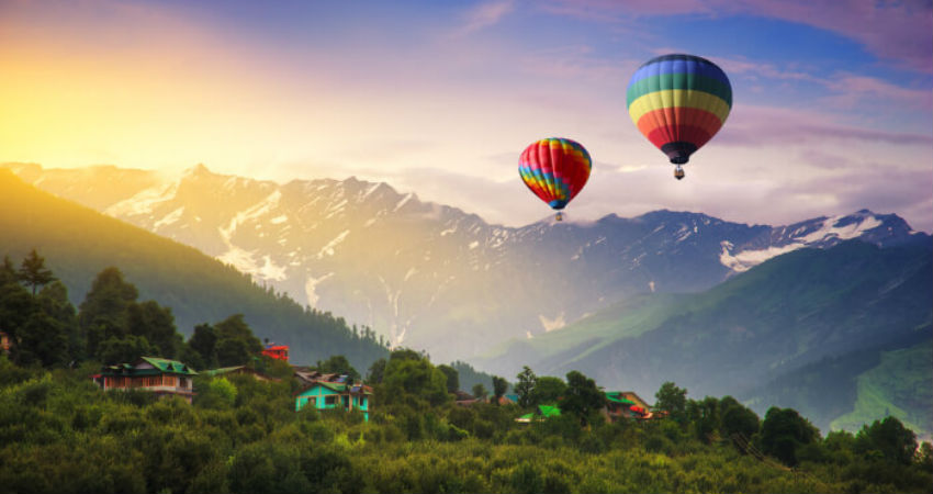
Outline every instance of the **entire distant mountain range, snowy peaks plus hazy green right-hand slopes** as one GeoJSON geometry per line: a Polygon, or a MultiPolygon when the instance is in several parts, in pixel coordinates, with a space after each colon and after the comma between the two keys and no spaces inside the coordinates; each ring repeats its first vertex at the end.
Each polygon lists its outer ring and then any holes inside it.
{"type": "Polygon", "coordinates": [[[893,409],[933,430],[933,397],[917,392],[933,384],[920,351],[933,244],[893,214],[767,226],[655,211],[505,227],[353,178],[5,167],[437,361],[506,377],[577,369],[647,396],[673,380],[760,413],[793,403],[821,428],[893,409]]]}

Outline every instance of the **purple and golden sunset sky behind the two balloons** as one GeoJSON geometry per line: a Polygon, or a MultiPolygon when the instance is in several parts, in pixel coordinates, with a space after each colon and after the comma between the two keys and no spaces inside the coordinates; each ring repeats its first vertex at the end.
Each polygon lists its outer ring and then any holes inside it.
{"type": "Polygon", "coordinates": [[[594,159],[575,221],[931,232],[933,1],[0,0],[0,162],[355,176],[518,226],[550,213],[517,168],[552,136],[594,159]],[[683,181],[626,109],[667,53],[733,89],[683,181]]]}

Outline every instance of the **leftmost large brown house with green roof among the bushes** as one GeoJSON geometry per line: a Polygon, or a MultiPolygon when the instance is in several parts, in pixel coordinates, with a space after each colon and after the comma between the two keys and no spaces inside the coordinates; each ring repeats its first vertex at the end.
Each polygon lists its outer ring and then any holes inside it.
{"type": "Polygon", "coordinates": [[[158,396],[181,396],[188,403],[194,397],[194,369],[178,360],[142,357],[135,363],[106,366],[92,378],[104,391],[146,390],[158,396]]]}

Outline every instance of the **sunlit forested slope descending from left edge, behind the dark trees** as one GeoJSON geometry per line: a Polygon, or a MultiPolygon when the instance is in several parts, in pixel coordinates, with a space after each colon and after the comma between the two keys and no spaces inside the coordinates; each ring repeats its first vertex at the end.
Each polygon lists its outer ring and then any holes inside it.
{"type": "Polygon", "coordinates": [[[140,300],[171,308],[183,335],[198,324],[243,314],[258,337],[290,345],[297,363],[341,353],[364,369],[386,353],[369,328],[303,307],[191,247],[38,191],[0,170],[0,255],[19,263],[33,248],[76,305],[99,272],[115,267],[138,288],[140,300]]]}

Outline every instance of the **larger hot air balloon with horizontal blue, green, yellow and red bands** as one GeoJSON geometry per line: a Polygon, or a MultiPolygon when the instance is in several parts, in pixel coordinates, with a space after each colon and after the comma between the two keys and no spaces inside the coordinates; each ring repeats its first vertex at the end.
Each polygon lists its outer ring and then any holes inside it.
{"type": "Polygon", "coordinates": [[[722,127],[732,86],[716,64],[694,55],[664,55],[639,67],[629,81],[629,116],[652,144],[681,167],[722,127]]]}

